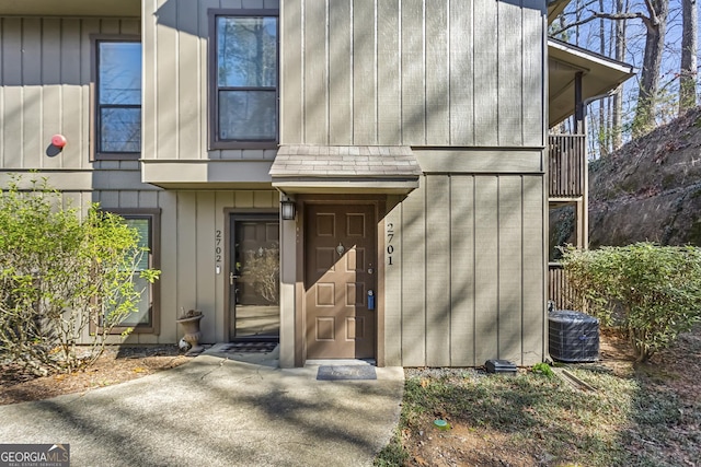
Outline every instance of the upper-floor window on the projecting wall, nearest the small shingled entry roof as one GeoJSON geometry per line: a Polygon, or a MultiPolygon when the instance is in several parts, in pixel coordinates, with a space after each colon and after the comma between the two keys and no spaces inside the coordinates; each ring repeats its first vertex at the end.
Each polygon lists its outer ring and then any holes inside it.
{"type": "MultiPolygon", "coordinates": [[[[258,13],[258,12],[256,12],[258,13]]],[[[214,149],[277,141],[277,16],[214,15],[214,149]]]]}

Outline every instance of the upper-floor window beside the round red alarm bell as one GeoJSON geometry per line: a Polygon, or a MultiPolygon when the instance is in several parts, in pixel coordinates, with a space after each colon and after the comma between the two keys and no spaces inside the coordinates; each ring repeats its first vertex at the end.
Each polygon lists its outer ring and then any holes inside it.
{"type": "Polygon", "coordinates": [[[141,151],[141,44],[97,39],[95,55],[95,155],[138,156],[141,151]]]}

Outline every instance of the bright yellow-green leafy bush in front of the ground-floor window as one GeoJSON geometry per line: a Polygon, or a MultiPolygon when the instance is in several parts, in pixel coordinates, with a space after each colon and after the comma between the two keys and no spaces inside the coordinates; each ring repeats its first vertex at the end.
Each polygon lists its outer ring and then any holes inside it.
{"type": "Polygon", "coordinates": [[[46,180],[27,191],[19,183],[0,191],[0,358],[35,374],[70,372],[94,362],[137,310],[135,271],[145,252],[118,215],[93,205],[81,220],[46,180]]]}

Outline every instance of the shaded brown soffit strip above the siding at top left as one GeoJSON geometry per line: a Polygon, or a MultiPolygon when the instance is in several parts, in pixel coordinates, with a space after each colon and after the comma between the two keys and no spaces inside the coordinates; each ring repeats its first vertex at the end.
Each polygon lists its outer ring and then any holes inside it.
{"type": "Polygon", "coordinates": [[[2,0],[0,16],[141,15],[141,0],[2,0]]]}

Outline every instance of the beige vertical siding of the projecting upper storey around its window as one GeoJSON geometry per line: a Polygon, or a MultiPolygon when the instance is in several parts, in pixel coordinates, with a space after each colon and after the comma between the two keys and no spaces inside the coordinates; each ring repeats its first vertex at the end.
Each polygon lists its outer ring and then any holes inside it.
{"type": "MultiPolygon", "coordinates": [[[[280,7],[280,142],[542,145],[544,7],[536,0],[290,0],[280,7]]],[[[208,151],[208,9],[145,0],[143,156],[208,151]]]]}

